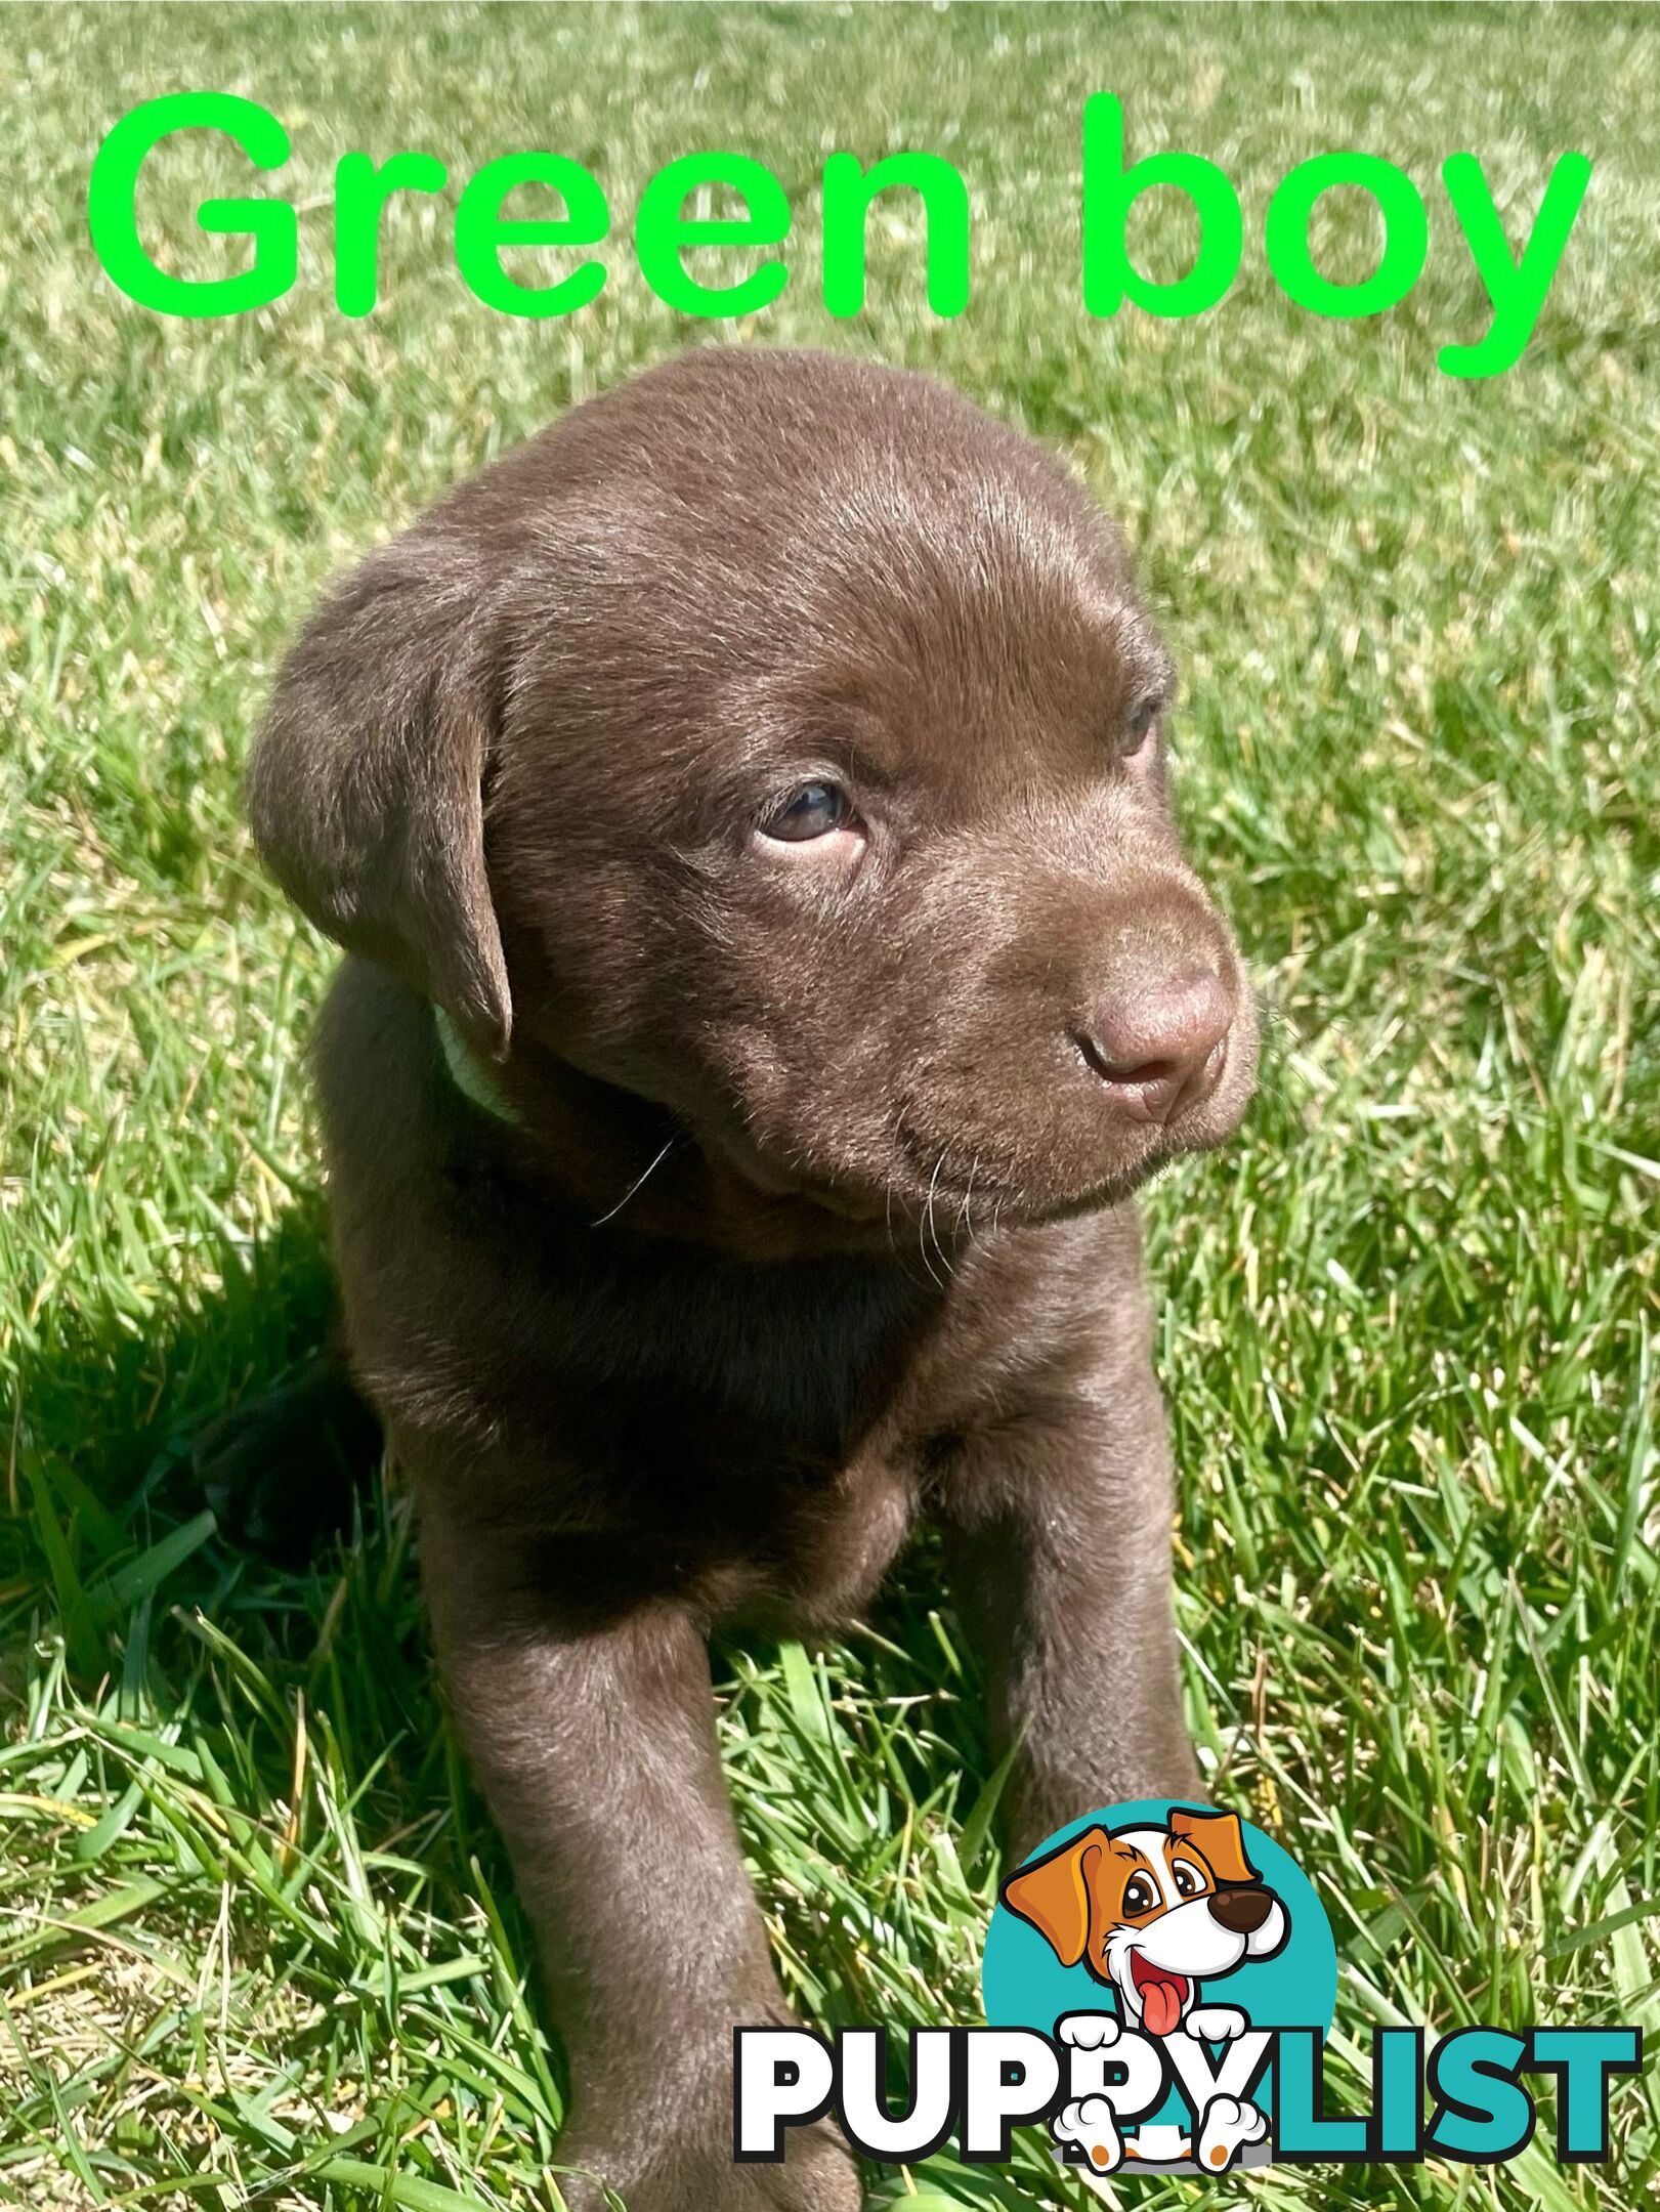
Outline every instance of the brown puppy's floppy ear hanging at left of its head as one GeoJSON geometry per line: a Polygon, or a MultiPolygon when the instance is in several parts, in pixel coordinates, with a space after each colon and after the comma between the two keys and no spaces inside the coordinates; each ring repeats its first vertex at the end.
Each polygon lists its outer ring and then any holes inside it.
{"type": "Polygon", "coordinates": [[[288,896],[491,1053],[511,1031],[485,878],[498,688],[485,553],[416,526],[312,615],[248,768],[255,838],[288,896]]]}

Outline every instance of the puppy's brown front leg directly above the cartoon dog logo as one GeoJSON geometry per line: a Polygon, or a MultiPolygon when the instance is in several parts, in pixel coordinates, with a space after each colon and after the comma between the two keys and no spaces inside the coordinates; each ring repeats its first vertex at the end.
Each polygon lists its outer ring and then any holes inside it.
{"type": "Polygon", "coordinates": [[[1171,1453],[1144,1329],[969,1436],[941,1486],[1016,1858],[1129,1798],[1193,1796],[1171,1613],[1171,1453]]]}

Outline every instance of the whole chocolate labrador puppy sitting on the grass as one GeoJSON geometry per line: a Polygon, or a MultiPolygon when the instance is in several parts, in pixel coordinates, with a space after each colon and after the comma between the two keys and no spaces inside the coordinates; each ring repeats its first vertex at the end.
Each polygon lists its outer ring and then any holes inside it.
{"type": "Polygon", "coordinates": [[[843,1621],[927,1515],[1014,1851],[1197,1787],[1131,1192],[1235,1126],[1255,1018],[1169,697],[1040,447],[750,347],[463,484],[281,670],[250,803],[350,953],[350,1360],[540,1931],[562,2157],[631,2212],[859,2201],[828,2126],[730,2163],[730,2033],[781,1997],[715,1624],[843,1621]]]}

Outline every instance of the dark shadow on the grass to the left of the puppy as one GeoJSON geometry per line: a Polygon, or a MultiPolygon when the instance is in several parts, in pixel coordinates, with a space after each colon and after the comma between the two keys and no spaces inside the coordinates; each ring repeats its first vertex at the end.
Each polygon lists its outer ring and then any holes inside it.
{"type": "Polygon", "coordinates": [[[266,1239],[226,1245],[219,1287],[162,1327],[117,1312],[55,1316],[20,1363],[0,1666],[29,1677],[29,1646],[62,1635],[66,1701],[206,1734],[255,1818],[292,1794],[303,1710],[341,1781],[361,1790],[365,1836],[378,1847],[449,1834],[434,1871],[465,1887],[474,1851],[491,1878],[505,1867],[456,1785],[407,1498],[394,1480],[367,1484],[350,1526],[290,1571],[219,1533],[190,1458],[208,1422],[319,1349],[330,1312],[328,1223],[312,1194],[266,1239]]]}

